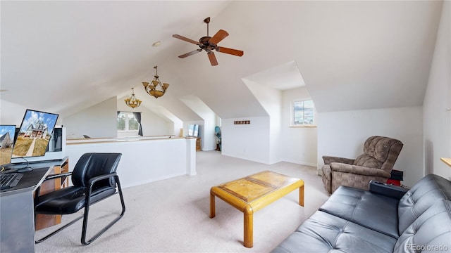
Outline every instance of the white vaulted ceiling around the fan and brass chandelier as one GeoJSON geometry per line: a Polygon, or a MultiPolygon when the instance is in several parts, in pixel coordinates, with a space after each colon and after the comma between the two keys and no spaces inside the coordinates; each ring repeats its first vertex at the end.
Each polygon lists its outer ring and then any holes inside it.
{"type": "Polygon", "coordinates": [[[196,119],[197,96],[219,117],[266,115],[243,78],[305,83],[319,112],[423,103],[441,1],[1,1],[1,100],[63,117],[135,87],[149,107],[196,119]],[[226,30],[244,56],[177,56],[226,30]],[[161,45],[152,44],[161,41],[161,45]],[[171,84],[142,88],[159,66],[171,84]],[[302,75],[301,75],[302,74],[302,75]],[[290,77],[290,78],[287,78],[290,77]]]}

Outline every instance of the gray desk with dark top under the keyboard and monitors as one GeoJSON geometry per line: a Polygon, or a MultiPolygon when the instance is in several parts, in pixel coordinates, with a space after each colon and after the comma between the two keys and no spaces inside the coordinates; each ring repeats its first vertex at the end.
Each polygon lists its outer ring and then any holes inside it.
{"type": "Polygon", "coordinates": [[[33,170],[24,172],[16,187],[0,191],[0,252],[35,252],[33,194],[53,167],[66,160],[30,163],[33,170]]]}

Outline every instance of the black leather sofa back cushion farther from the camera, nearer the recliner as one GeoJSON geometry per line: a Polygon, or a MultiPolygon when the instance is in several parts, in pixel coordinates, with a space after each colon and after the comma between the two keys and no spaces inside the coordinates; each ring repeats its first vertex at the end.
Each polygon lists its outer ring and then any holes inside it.
{"type": "Polygon", "coordinates": [[[400,200],[399,233],[402,234],[436,200],[451,200],[451,181],[428,174],[415,183],[400,200]]]}

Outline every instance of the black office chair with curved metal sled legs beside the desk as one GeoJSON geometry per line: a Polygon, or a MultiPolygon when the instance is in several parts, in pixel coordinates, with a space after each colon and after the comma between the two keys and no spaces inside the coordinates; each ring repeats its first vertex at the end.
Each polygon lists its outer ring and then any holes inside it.
{"type": "Polygon", "coordinates": [[[86,153],[80,157],[72,172],[47,176],[46,180],[71,176],[73,186],[41,196],[39,196],[38,188],[35,195],[35,222],[37,214],[74,214],[82,208],[85,208],[85,214],[44,238],[36,240],[36,243],[47,240],[47,238],[83,218],[81,242],[83,245],[89,245],[122,218],[125,212],[125,204],[121,183],[119,183],[119,177],[116,174],[121,155],[120,153],[86,153]],[[116,193],[119,193],[121,198],[121,214],[92,236],[91,239],[86,240],[89,206],[116,193]]]}

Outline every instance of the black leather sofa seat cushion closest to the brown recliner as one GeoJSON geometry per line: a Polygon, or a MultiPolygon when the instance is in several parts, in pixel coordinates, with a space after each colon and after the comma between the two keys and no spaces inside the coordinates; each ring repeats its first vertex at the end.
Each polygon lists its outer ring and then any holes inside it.
{"type": "Polygon", "coordinates": [[[319,210],[398,238],[398,202],[392,197],[340,186],[319,210]]]}

